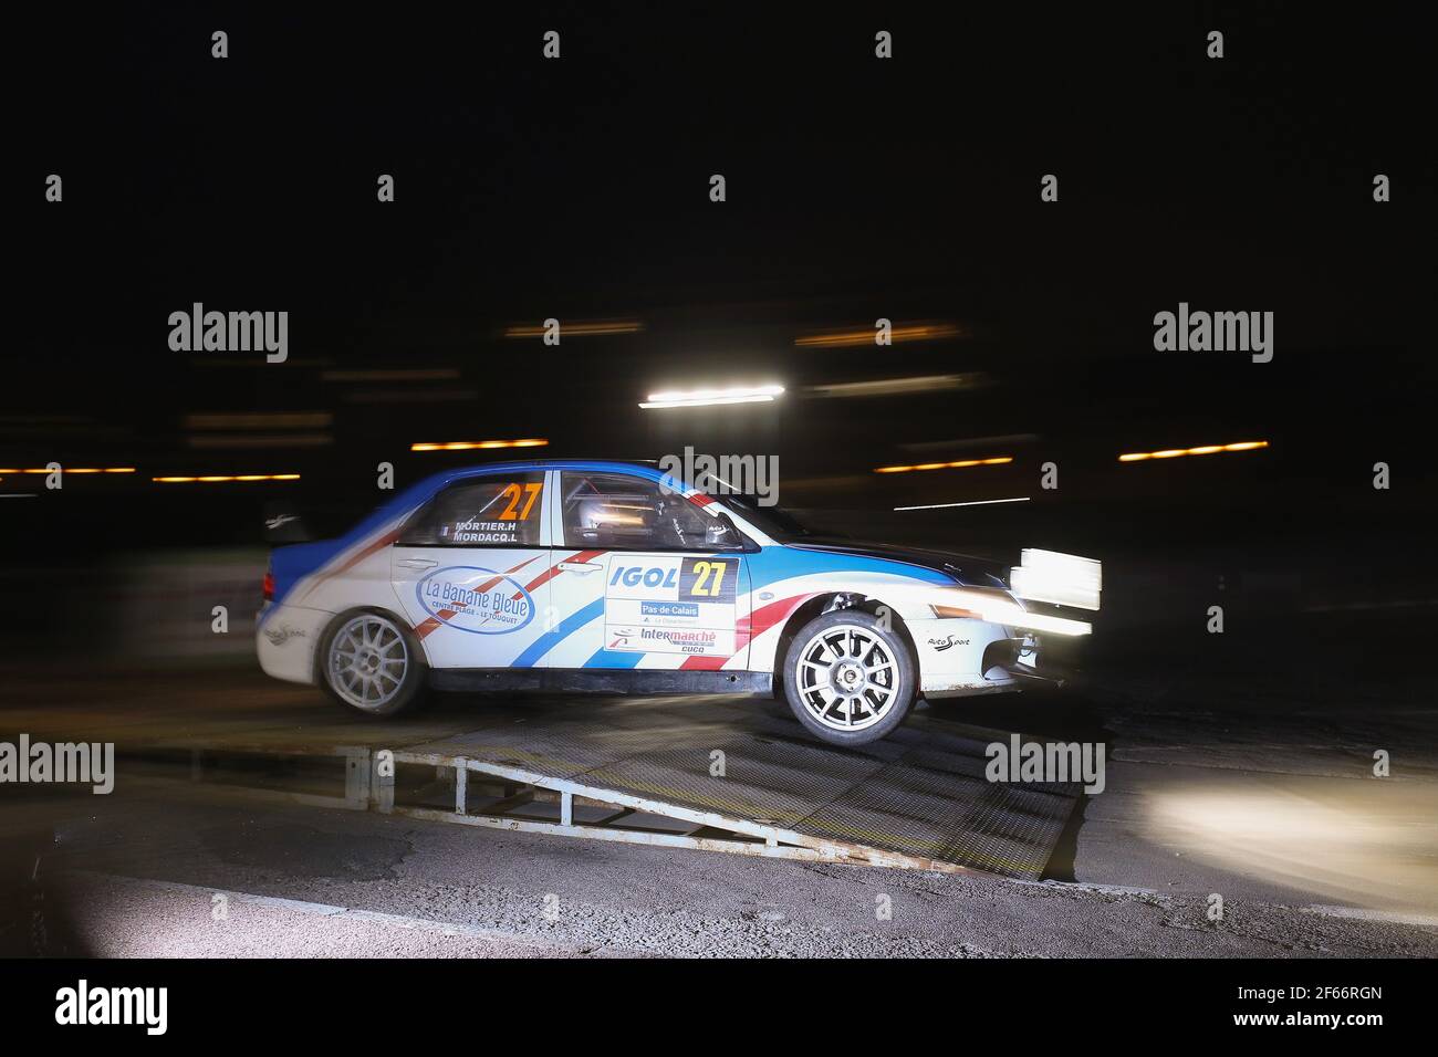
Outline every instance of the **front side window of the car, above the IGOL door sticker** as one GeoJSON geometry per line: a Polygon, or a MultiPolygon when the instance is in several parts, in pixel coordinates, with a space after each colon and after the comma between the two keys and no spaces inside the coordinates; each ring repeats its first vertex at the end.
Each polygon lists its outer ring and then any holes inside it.
{"type": "Polygon", "coordinates": [[[626,473],[559,477],[565,546],[617,551],[742,549],[725,522],[710,518],[679,492],[626,473]]]}

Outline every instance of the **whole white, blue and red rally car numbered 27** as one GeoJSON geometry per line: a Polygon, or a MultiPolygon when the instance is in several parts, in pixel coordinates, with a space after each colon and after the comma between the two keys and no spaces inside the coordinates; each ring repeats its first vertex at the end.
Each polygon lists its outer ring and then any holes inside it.
{"type": "Polygon", "coordinates": [[[444,472],[276,548],[256,644],[371,716],[427,689],[772,693],[858,745],[917,696],[1018,689],[1040,634],[1090,630],[1032,610],[981,559],[814,536],[651,465],[545,460],[444,472]]]}

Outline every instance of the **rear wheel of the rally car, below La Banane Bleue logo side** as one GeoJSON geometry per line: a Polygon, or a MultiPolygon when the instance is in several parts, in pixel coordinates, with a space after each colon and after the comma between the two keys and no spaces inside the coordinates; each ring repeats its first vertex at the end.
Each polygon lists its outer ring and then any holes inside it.
{"type": "Polygon", "coordinates": [[[417,706],[427,682],[424,654],[388,613],[351,610],[331,621],[319,643],[319,685],[364,716],[397,716],[417,706]]]}

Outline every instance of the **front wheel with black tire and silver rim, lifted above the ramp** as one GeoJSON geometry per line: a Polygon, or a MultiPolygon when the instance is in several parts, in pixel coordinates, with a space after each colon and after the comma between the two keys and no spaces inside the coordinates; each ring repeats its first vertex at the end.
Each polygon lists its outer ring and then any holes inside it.
{"type": "Polygon", "coordinates": [[[784,657],[789,708],[810,733],[831,745],[867,745],[890,733],[909,715],[916,686],[903,636],[863,610],[815,617],[784,657]]]}

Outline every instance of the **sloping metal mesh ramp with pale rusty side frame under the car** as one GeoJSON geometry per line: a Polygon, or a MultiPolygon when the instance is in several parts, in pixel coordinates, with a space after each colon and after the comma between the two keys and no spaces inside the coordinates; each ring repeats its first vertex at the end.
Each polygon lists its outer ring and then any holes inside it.
{"type": "Polygon", "coordinates": [[[1007,733],[915,716],[861,749],[742,697],[485,702],[477,729],[391,749],[380,811],[818,861],[1041,876],[1076,785],[984,778],[1007,733]],[[423,775],[421,781],[416,781],[423,775]]]}

